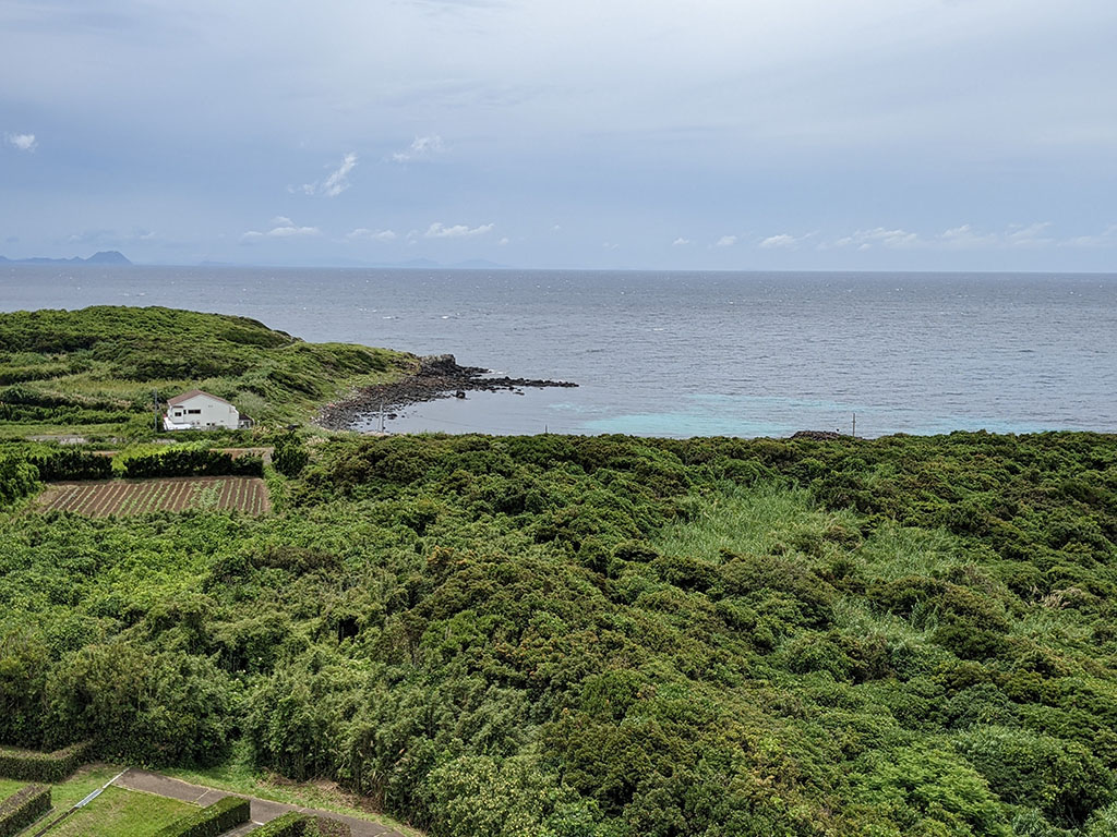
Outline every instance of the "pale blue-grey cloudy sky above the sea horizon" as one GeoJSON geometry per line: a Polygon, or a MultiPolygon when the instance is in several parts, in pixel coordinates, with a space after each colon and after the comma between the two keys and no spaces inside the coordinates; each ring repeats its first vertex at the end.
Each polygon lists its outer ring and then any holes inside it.
{"type": "Polygon", "coordinates": [[[1113,0],[0,0],[0,253],[1117,271],[1113,0]]]}

